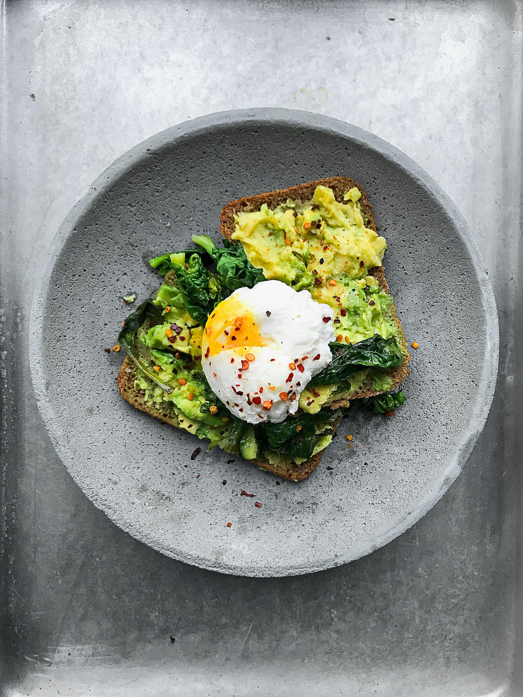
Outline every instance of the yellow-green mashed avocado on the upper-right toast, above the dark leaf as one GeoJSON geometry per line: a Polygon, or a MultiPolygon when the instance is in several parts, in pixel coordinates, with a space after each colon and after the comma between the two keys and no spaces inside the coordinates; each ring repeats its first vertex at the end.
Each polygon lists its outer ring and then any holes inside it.
{"type": "Polygon", "coordinates": [[[232,234],[267,279],[308,289],[330,305],[337,341],[352,343],[397,335],[393,300],[369,273],[381,266],[386,241],[365,227],[360,198],[353,187],[338,202],[332,189],[318,186],[310,204],[287,201],[238,213],[232,234]]]}

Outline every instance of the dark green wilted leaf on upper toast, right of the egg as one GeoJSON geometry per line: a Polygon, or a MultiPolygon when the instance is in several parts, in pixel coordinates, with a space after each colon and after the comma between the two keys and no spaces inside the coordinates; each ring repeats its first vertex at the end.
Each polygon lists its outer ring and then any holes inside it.
{"type": "Polygon", "coordinates": [[[379,335],[357,344],[329,344],[333,360],[319,372],[309,385],[335,385],[347,380],[365,366],[393,368],[402,365],[404,355],[396,339],[383,339],[379,335]]]}

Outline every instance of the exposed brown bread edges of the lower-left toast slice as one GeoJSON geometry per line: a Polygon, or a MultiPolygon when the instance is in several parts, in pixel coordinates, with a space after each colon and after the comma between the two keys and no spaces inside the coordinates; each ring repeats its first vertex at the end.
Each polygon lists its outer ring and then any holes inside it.
{"type": "MultiPolygon", "coordinates": [[[[135,366],[132,360],[126,356],[121,365],[117,378],[118,388],[123,399],[125,399],[126,402],[128,402],[128,404],[131,406],[135,406],[137,409],[145,411],[151,416],[164,421],[166,424],[180,428],[178,416],[174,412],[170,402],[163,402],[160,406],[151,406],[146,404],[144,390],[141,390],[135,385],[137,370],[138,368],[135,366]]],[[[338,427],[338,423],[339,422],[335,422],[335,424],[333,424],[334,431],[336,427],[338,427]]],[[[321,456],[324,454],[324,452],[325,450],[320,450],[320,452],[317,452],[317,454],[313,455],[310,459],[300,465],[296,464],[295,462],[289,465],[273,465],[266,459],[259,459],[255,460],[254,462],[261,469],[267,470],[278,477],[285,477],[285,479],[290,480],[291,482],[299,482],[300,480],[307,479],[312,472],[314,472],[319,465],[319,461],[321,460],[321,456]]]]}

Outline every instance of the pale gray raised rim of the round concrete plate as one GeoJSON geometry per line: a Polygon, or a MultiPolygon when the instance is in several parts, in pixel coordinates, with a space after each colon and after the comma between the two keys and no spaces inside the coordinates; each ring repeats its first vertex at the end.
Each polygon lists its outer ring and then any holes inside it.
{"type": "Polygon", "coordinates": [[[140,542],[151,546],[153,549],[160,551],[165,556],[169,556],[179,561],[195,565],[202,569],[207,569],[209,571],[220,572],[223,574],[232,574],[236,576],[250,576],[250,577],[281,577],[281,576],[296,576],[301,574],[308,574],[312,572],[318,572],[326,569],[331,569],[333,567],[346,564],[348,562],[359,559],[367,554],[379,549],[381,546],[388,544],[395,537],[399,537],[406,530],[411,528],[418,520],[420,520],[436,503],[439,499],[444,496],[444,493],[448,491],[449,487],[456,480],[457,476],[462,472],[470,454],[473,450],[474,445],[480,436],[485,422],[487,420],[487,415],[492,406],[492,399],[494,397],[494,390],[497,383],[498,365],[499,365],[499,322],[496,307],[496,300],[494,298],[494,291],[492,289],[492,284],[490,282],[490,277],[488,275],[487,266],[483,260],[483,255],[480,252],[479,245],[474,238],[467,222],[458,210],[457,206],[448,197],[448,195],[441,189],[441,187],[434,181],[434,179],[427,174],[427,172],[420,167],[414,160],[412,160],[409,155],[406,155],[395,146],[391,145],[384,139],[381,139],[377,135],[374,135],[356,125],[347,123],[345,121],[340,121],[338,118],[333,118],[331,116],[325,116],[324,114],[316,114],[314,112],[305,112],[297,109],[282,109],[279,107],[257,107],[252,109],[233,109],[225,112],[216,112],[213,114],[206,114],[204,116],[199,116],[197,118],[179,123],[177,125],[171,126],[165,130],[162,130],[148,138],[139,144],[132,147],[126,153],[123,153],[119,158],[114,160],[109,167],[105,169],[100,176],[96,178],[95,181],[89,187],[89,190],[84,194],[82,199],[77,201],[77,203],[71,208],[68,215],[61,223],[58,231],[50,244],[47,254],[43,260],[42,267],[40,268],[40,273],[38,274],[38,279],[36,282],[36,287],[33,295],[33,302],[31,305],[31,312],[29,316],[29,367],[31,372],[31,381],[33,383],[33,390],[36,396],[36,402],[38,404],[38,411],[45,425],[47,434],[49,434],[52,441],[53,447],[56,450],[61,459],[63,465],[66,467],[69,475],[73,478],[77,486],[77,477],[71,473],[68,468],[66,461],[68,454],[66,452],[66,447],[61,443],[61,440],[54,433],[53,429],[50,428],[50,423],[54,420],[53,409],[50,401],[45,395],[45,378],[43,375],[42,361],[40,361],[40,353],[43,350],[43,312],[45,309],[45,290],[49,284],[50,278],[52,276],[52,271],[54,264],[59,258],[59,255],[66,244],[70,233],[75,230],[75,223],[81,220],[82,216],[86,213],[93,203],[98,199],[98,197],[103,196],[106,187],[115,183],[121,176],[126,174],[126,171],[131,169],[137,164],[139,160],[146,160],[150,156],[154,156],[163,146],[167,146],[169,143],[175,140],[185,139],[187,137],[192,137],[197,135],[197,132],[206,132],[212,128],[217,128],[220,126],[230,126],[234,128],[238,124],[250,123],[250,122],[282,122],[287,125],[289,123],[296,126],[296,128],[306,127],[313,128],[315,130],[322,130],[325,132],[331,132],[336,135],[343,135],[344,137],[349,137],[357,144],[376,151],[384,157],[386,160],[393,162],[397,167],[400,167],[405,174],[409,177],[414,178],[414,181],[420,185],[427,194],[437,201],[437,204],[443,208],[449,215],[455,229],[464,242],[467,249],[469,257],[473,263],[473,268],[476,273],[476,280],[480,288],[481,300],[483,306],[483,312],[485,315],[485,330],[486,330],[486,343],[485,343],[485,356],[483,360],[483,371],[481,373],[480,383],[478,385],[478,390],[476,392],[476,404],[471,417],[469,418],[468,429],[462,433],[460,438],[460,443],[453,452],[452,457],[448,460],[447,466],[441,476],[436,480],[429,491],[429,494],[425,498],[420,499],[416,508],[404,516],[398,523],[396,523],[391,528],[388,528],[385,533],[382,533],[379,539],[370,544],[364,544],[357,551],[353,551],[344,556],[340,555],[336,558],[330,558],[322,565],[314,565],[309,567],[280,567],[274,568],[270,564],[266,564],[263,567],[240,567],[238,565],[232,565],[229,562],[212,562],[207,558],[195,558],[195,556],[190,557],[188,554],[176,554],[176,551],[163,549],[159,544],[154,544],[146,535],[142,534],[139,528],[135,528],[131,524],[127,528],[121,528],[121,526],[116,523],[112,510],[108,507],[103,507],[102,502],[98,502],[96,493],[89,491],[89,495],[86,493],[85,487],[79,487],[84,495],[91,500],[91,502],[100,510],[107,515],[107,517],[112,520],[121,530],[128,533],[132,537],[139,539],[140,542]]]}

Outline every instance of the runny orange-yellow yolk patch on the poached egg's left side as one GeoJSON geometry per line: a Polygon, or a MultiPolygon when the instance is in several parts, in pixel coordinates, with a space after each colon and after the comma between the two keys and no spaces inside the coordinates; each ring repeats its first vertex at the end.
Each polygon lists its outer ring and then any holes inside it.
{"type": "Polygon", "coordinates": [[[247,346],[271,346],[273,339],[262,337],[254,314],[234,297],[220,302],[205,325],[204,355],[247,346]],[[208,353],[209,351],[209,353],[208,353]]]}

